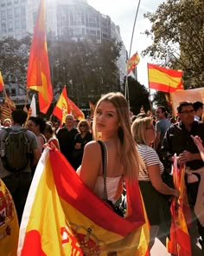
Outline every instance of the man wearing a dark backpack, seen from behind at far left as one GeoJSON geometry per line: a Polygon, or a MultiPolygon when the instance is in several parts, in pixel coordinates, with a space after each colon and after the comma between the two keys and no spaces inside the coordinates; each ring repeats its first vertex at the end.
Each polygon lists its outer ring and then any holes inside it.
{"type": "Polygon", "coordinates": [[[11,115],[12,126],[0,128],[0,178],[10,190],[20,223],[32,181],[30,166],[37,164],[41,151],[35,134],[22,128],[22,124],[27,120],[27,113],[16,109],[11,115]],[[9,139],[11,136],[12,139],[9,139]]]}

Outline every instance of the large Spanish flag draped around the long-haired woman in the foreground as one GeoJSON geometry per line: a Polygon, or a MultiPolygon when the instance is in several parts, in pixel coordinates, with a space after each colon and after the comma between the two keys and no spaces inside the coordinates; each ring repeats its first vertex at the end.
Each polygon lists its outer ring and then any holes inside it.
{"type": "Polygon", "coordinates": [[[149,255],[138,184],[126,184],[123,219],[92,194],[61,152],[46,148],[22,216],[18,255],[149,255]]]}

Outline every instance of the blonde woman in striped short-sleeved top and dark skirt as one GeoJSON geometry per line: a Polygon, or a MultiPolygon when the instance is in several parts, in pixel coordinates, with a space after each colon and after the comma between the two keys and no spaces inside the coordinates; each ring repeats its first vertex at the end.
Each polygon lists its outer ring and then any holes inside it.
{"type": "Polygon", "coordinates": [[[150,221],[150,247],[153,246],[159,226],[166,226],[165,232],[169,233],[170,212],[168,200],[164,195],[179,196],[179,191],[168,187],[162,180],[163,163],[151,145],[155,141],[156,131],[150,117],[136,119],[131,126],[137,149],[145,167],[139,173],[138,180],[143,194],[144,205],[150,221]]]}

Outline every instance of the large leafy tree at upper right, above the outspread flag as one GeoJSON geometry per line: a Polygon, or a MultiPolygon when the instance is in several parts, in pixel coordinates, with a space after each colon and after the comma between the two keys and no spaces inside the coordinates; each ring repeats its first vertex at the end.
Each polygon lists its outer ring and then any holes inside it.
{"type": "Polygon", "coordinates": [[[152,23],[153,43],[143,51],[158,64],[184,71],[184,87],[204,86],[204,1],[167,0],[155,13],[145,15],[152,23]]]}

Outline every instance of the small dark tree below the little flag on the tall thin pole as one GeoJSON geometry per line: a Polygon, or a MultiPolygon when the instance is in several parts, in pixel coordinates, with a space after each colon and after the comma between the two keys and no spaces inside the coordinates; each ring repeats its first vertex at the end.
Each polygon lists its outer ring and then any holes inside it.
{"type": "MultiPolygon", "coordinates": [[[[124,84],[125,79],[126,78],[124,78],[124,84]]],[[[137,115],[142,106],[145,112],[150,110],[149,91],[131,76],[128,76],[128,88],[131,112],[137,115]]]]}

